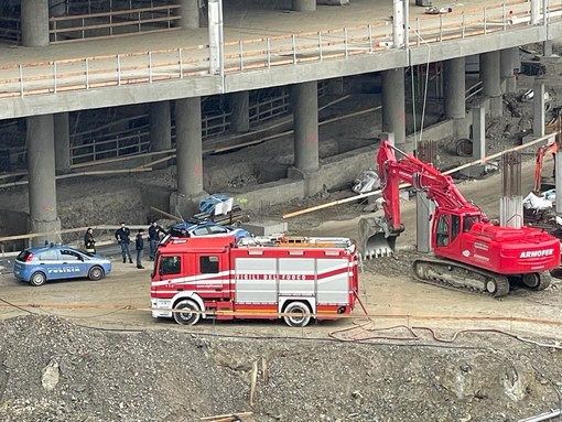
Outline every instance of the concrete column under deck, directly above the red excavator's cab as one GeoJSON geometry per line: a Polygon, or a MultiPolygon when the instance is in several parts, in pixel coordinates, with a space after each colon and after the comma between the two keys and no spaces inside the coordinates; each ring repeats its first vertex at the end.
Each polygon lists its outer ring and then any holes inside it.
{"type": "Polygon", "coordinates": [[[445,116],[447,119],[466,118],[465,58],[452,58],[444,63],[445,116]]]}

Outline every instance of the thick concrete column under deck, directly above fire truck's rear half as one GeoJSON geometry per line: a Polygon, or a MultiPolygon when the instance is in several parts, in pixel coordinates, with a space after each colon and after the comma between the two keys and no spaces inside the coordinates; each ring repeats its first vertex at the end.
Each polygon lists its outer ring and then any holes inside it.
{"type": "Polygon", "coordinates": [[[320,167],[318,86],[316,80],[291,87],[294,129],[294,166],[303,172],[320,167]]]}

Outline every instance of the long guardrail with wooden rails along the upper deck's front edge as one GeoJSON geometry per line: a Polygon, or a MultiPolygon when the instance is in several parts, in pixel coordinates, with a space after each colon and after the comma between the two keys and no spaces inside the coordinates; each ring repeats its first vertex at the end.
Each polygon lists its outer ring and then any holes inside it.
{"type": "MultiPolygon", "coordinates": [[[[409,47],[487,35],[530,25],[530,3],[424,17],[410,22],[409,47]],[[435,24],[437,20],[439,24],[435,24]]],[[[562,6],[548,11],[548,22],[562,20],[562,6]]],[[[542,22],[542,21],[540,21],[542,22]]],[[[542,24],[542,23],[538,24],[542,24]]],[[[367,24],[342,30],[240,40],[224,43],[224,73],[236,74],[376,54],[392,45],[391,25],[367,24]]],[[[208,75],[208,45],[142,53],[87,56],[0,66],[0,98],[182,79],[208,75]]]]}

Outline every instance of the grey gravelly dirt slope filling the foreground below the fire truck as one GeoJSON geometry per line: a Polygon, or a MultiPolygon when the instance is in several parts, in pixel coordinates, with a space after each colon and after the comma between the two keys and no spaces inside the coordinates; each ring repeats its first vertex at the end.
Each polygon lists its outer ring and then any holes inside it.
{"type": "MultiPolygon", "coordinates": [[[[555,408],[562,354],[356,326],[334,342],[115,333],[51,316],[0,324],[2,421],[515,421],[555,408]],[[256,371],[250,404],[252,371],[256,371]]],[[[421,334],[421,332],[420,332],[421,334]]]]}

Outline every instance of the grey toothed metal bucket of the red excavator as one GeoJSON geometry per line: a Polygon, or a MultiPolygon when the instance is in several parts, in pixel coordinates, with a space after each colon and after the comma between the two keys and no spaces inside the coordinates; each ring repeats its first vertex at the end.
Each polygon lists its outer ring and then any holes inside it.
{"type": "Polygon", "coordinates": [[[358,249],[364,259],[390,257],[395,253],[398,232],[391,232],[385,218],[359,220],[358,249]]]}

